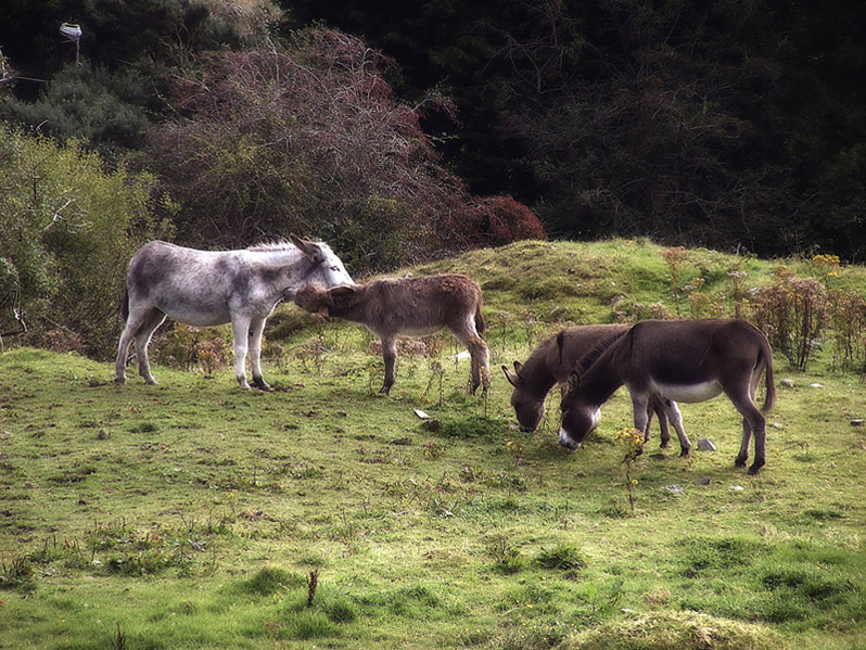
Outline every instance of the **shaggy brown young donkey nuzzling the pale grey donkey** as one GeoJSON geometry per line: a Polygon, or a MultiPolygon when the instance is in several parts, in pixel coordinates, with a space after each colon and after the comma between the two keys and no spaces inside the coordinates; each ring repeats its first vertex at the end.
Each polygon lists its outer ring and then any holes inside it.
{"type": "Polygon", "coordinates": [[[446,327],[472,358],[472,393],[482,383],[487,390],[487,344],[480,335],[485,327],[481,288],[466,276],[386,278],[330,290],[308,284],[295,294],[295,303],[313,314],[359,322],[379,335],[385,360],[381,393],[394,385],[397,336],[425,336],[446,327]]]}

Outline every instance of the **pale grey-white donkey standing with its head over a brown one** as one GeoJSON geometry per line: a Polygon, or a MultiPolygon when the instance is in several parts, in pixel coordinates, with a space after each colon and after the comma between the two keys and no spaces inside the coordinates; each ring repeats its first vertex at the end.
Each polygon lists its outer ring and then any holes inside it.
{"type": "Polygon", "coordinates": [[[294,234],[290,242],[262,244],[242,251],[196,251],[161,241],[139,248],[129,260],[114,382],[126,382],[126,359],[135,339],[138,369],[154,384],[148,345],[166,317],[193,326],[231,322],[234,373],[249,390],[247,345],[253,384],[270,390],[262,377],[262,331],[283,298],[308,282],[328,286],[352,284],[352,277],[328,244],[294,234]]]}

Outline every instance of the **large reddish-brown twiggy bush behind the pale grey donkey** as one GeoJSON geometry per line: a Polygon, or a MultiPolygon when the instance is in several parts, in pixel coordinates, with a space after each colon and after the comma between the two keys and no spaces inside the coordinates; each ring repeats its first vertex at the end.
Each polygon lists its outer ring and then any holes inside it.
{"type": "Polygon", "coordinates": [[[177,117],[153,130],[147,155],[182,206],[179,237],[231,246],[315,232],[364,269],[469,243],[480,208],[440,163],[420,109],[394,98],[389,65],[360,39],[316,28],[180,78],[177,117]]]}

